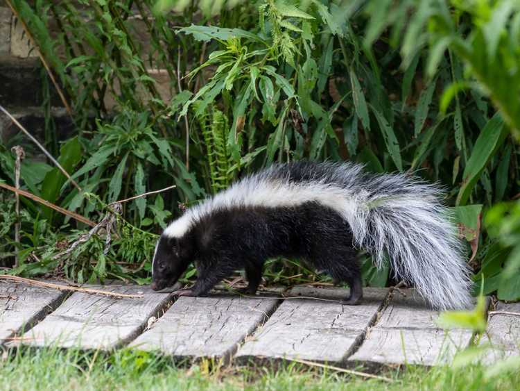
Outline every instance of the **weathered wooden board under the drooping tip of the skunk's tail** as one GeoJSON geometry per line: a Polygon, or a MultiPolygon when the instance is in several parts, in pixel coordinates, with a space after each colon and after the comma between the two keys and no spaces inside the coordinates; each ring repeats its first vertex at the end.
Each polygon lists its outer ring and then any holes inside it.
{"type": "Polygon", "coordinates": [[[376,364],[435,365],[447,363],[456,350],[466,347],[472,332],[444,331],[435,324],[439,313],[428,308],[415,290],[395,292],[379,321],[349,361],[376,364]]]}

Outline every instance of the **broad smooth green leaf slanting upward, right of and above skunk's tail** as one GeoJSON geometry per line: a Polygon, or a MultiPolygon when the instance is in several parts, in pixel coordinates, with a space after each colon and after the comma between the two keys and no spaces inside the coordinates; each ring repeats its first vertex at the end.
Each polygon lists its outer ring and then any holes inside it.
{"type": "Polygon", "coordinates": [[[464,205],[467,202],[480,174],[496,149],[502,144],[505,135],[507,133],[504,131],[503,119],[499,113],[496,113],[492,119],[489,119],[475,142],[464,174],[462,174],[462,186],[457,196],[457,205],[464,205]]]}

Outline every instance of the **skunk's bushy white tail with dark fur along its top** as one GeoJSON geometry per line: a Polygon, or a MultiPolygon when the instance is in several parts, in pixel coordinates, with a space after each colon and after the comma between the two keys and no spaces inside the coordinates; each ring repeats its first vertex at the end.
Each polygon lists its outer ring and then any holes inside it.
{"type": "MultiPolygon", "coordinates": [[[[385,255],[399,278],[413,283],[439,310],[471,306],[469,268],[442,190],[407,174],[367,174],[352,163],[293,163],[266,172],[270,178],[306,183],[322,194],[338,194],[330,205],[342,213],[356,245],[369,251],[377,267],[385,255]]],[[[320,201],[317,194],[317,201],[320,201]]]]}

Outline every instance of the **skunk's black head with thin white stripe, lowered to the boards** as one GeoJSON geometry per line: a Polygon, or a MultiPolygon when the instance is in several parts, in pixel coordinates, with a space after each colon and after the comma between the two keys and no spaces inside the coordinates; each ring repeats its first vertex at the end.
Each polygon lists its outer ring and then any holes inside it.
{"type": "Polygon", "coordinates": [[[177,282],[182,276],[193,254],[188,238],[171,238],[161,235],[152,263],[152,289],[162,290],[177,282]]]}

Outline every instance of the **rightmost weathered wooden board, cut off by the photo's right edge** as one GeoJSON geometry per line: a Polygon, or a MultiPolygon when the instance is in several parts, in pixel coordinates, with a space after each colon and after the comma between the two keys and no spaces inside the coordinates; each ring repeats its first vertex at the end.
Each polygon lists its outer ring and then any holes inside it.
{"type": "Polygon", "coordinates": [[[492,363],[500,358],[520,355],[520,303],[498,303],[497,311],[506,311],[518,315],[490,314],[487,322],[487,335],[480,340],[482,344],[491,344],[485,361],[492,363]]]}

